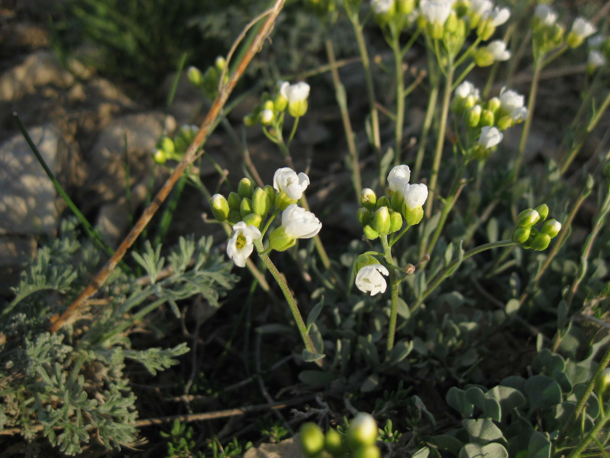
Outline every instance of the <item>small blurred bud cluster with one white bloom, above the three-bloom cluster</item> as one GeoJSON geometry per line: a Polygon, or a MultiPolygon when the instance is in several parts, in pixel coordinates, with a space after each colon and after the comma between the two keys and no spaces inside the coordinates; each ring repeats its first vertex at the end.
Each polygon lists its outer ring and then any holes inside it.
{"type": "Polygon", "coordinates": [[[279,81],[274,95],[264,92],[261,97],[262,103],[254,106],[252,113],[245,115],[243,123],[248,127],[260,123],[263,127],[272,126],[281,130],[286,109],[294,118],[306,114],[309,89],[309,84],[303,81],[296,84],[279,81]]]}

